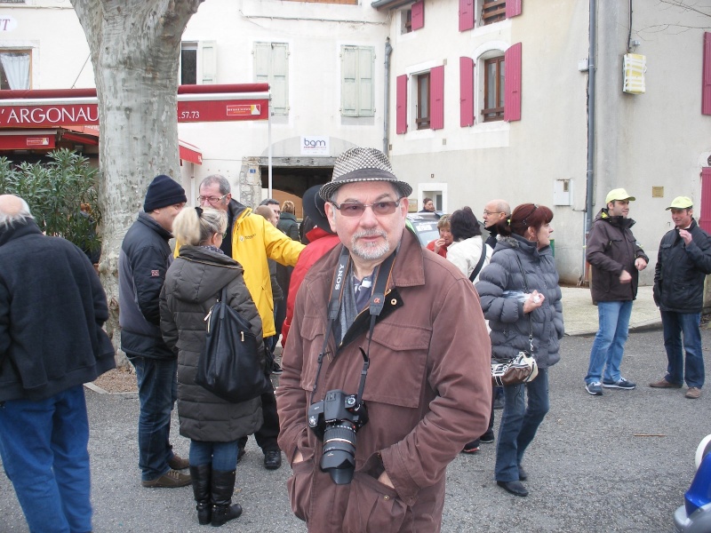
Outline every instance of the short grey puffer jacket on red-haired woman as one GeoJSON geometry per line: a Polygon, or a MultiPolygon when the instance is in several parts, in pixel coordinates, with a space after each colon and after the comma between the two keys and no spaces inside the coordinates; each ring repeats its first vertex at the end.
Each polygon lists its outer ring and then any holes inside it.
{"type": "Polygon", "coordinates": [[[500,237],[491,262],[479,274],[476,291],[482,301],[484,318],[491,328],[491,352],[496,359],[506,360],[529,347],[529,315],[523,314],[523,303],[506,298],[505,290],[538,290],[546,299],[531,312],[533,324],[533,356],[540,368],[553,366],[560,360],[559,340],[563,338],[563,306],[558,271],[550,246],[536,249],[523,237],[500,237]],[[516,256],[521,259],[528,290],[516,256]]]}

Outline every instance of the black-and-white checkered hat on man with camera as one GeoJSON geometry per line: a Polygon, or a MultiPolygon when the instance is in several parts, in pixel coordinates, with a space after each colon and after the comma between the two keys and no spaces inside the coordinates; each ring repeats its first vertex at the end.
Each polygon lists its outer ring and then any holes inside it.
{"type": "Polygon", "coordinates": [[[341,185],[356,181],[389,181],[400,191],[403,198],[412,193],[412,187],[395,178],[387,156],[375,148],[348,148],[338,156],[333,165],[333,178],[321,187],[318,195],[330,202],[333,193],[341,185]]]}

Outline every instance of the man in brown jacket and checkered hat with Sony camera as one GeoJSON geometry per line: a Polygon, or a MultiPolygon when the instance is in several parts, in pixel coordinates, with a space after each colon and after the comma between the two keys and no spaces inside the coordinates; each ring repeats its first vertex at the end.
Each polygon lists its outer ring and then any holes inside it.
{"type": "Polygon", "coordinates": [[[479,298],[405,229],[411,192],[363,147],[320,191],[340,245],[300,286],[276,393],[292,509],[309,531],[439,531],[446,466],[487,428],[479,298]]]}

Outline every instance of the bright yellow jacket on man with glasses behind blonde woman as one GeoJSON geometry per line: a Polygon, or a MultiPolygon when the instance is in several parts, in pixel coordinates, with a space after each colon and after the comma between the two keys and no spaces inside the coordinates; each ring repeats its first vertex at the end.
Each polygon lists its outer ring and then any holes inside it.
{"type": "MultiPolygon", "coordinates": [[[[292,241],[267,219],[254,215],[252,209],[235,200],[228,207],[234,216],[232,225],[232,259],[244,268],[244,283],[260,312],[264,338],[276,335],[274,325],[274,299],[267,259],[274,259],[285,267],[293,267],[305,246],[292,241]]],[[[175,256],[180,243],[175,246],[175,256]]],[[[283,287],[283,289],[288,289],[283,287]]]]}

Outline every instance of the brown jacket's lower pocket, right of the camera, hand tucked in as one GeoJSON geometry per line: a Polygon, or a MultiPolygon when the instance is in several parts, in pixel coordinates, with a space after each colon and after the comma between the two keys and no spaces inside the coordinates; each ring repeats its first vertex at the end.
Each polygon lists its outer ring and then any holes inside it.
{"type": "Polygon", "coordinates": [[[407,513],[407,505],[395,489],[371,475],[356,472],[351,481],[348,506],[343,519],[344,533],[396,533],[407,513]]]}

